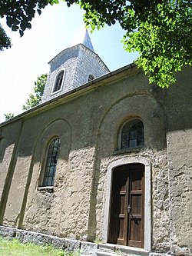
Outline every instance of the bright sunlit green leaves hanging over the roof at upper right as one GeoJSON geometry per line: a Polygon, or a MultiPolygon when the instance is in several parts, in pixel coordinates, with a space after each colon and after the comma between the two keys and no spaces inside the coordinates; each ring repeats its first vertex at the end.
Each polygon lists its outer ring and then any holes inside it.
{"type": "Polygon", "coordinates": [[[144,21],[137,20],[137,31],[127,32],[122,40],[127,52],[140,53],[136,64],[161,88],[174,84],[183,65],[191,65],[192,22],[186,13],[191,6],[182,1],[158,4],[145,13],[144,21]]]}

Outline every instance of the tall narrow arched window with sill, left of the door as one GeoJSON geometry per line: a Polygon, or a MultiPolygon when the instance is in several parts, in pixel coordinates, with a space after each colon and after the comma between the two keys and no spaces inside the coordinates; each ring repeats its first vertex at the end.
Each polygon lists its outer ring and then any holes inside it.
{"type": "Polygon", "coordinates": [[[60,148],[59,138],[51,141],[48,148],[47,161],[45,165],[45,175],[43,179],[43,186],[53,186],[55,179],[55,171],[58,163],[58,150],[60,148]]]}

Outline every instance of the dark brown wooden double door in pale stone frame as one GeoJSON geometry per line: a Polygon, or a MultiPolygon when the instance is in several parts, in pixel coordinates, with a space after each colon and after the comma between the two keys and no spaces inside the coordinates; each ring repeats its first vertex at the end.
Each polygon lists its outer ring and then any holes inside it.
{"type": "Polygon", "coordinates": [[[108,242],[144,248],[144,165],[115,168],[108,242]]]}

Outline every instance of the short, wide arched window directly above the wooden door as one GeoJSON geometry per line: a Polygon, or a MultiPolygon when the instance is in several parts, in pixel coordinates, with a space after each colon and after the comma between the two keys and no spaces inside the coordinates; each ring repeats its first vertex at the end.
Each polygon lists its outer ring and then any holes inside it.
{"type": "Polygon", "coordinates": [[[121,129],[121,149],[144,146],[144,124],[139,119],[127,121],[121,129]]]}

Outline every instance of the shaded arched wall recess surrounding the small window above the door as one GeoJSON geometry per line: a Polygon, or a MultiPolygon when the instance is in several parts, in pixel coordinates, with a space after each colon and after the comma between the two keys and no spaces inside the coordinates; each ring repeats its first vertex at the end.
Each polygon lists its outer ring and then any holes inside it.
{"type": "Polygon", "coordinates": [[[98,154],[108,157],[119,149],[119,131],[123,124],[138,119],[144,125],[144,147],[166,147],[164,110],[151,95],[127,95],[114,102],[101,120],[98,154]],[[158,139],[157,139],[158,138],[158,139]]]}

